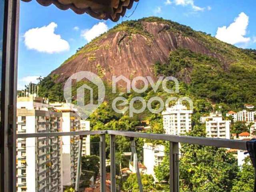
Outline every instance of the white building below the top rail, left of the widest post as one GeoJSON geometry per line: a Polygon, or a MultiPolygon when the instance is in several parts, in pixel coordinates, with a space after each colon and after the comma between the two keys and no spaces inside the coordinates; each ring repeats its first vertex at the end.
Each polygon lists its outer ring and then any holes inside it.
{"type": "Polygon", "coordinates": [[[152,143],[144,143],[143,146],[143,164],[146,166],[146,174],[152,175],[157,182],[154,167],[160,165],[165,156],[163,145],[154,145],[152,143]]]}

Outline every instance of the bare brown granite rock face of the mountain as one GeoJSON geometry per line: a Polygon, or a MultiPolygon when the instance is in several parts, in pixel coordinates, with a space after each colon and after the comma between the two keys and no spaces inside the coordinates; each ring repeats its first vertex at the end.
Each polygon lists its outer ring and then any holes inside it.
{"type": "MultiPolygon", "coordinates": [[[[172,31],[171,26],[166,23],[141,21],[141,26],[145,33],[119,30],[103,34],[50,75],[58,74],[56,82],[64,82],[79,71],[96,74],[100,71],[105,80],[112,80],[114,75],[130,79],[151,76],[155,79],[152,69],[155,62],[168,62],[170,52],[177,48],[186,48],[223,60],[221,55],[212,52],[197,38],[172,31]]],[[[189,78],[184,81],[189,82],[189,78]]],[[[120,85],[123,86],[122,83],[120,85]]]]}

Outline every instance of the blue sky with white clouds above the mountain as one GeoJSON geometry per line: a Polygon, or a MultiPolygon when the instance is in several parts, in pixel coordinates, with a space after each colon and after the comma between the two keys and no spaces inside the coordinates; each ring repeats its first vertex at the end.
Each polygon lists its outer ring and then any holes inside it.
{"type": "MultiPolygon", "coordinates": [[[[136,3],[126,12],[127,16],[135,6],[136,3]]],[[[239,47],[256,48],[255,7],[255,0],[140,0],[129,20],[159,16],[239,47]]],[[[38,76],[47,76],[78,47],[120,22],[101,21],[87,14],[77,15],[72,10],[62,11],[54,5],[40,6],[36,0],[21,2],[18,88],[30,81],[35,82],[38,76]]]]}

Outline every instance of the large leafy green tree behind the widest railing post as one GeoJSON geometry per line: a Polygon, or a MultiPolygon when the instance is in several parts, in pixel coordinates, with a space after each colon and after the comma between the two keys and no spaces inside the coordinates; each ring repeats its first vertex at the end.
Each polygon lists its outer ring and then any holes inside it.
{"type": "MultiPolygon", "coordinates": [[[[205,127],[195,126],[188,135],[205,136],[205,127]]],[[[234,156],[226,153],[225,149],[182,144],[180,154],[180,191],[226,192],[232,189],[238,167],[234,156]]],[[[169,179],[168,156],[155,171],[158,180],[169,179]]]]}

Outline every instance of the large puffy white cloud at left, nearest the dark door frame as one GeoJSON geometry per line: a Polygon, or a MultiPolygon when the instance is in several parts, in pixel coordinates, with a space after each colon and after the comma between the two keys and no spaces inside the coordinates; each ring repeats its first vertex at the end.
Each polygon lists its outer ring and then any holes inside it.
{"type": "Polygon", "coordinates": [[[26,47],[49,54],[69,50],[68,42],[54,33],[57,26],[56,23],[51,22],[48,26],[28,30],[24,34],[26,47]]]}

